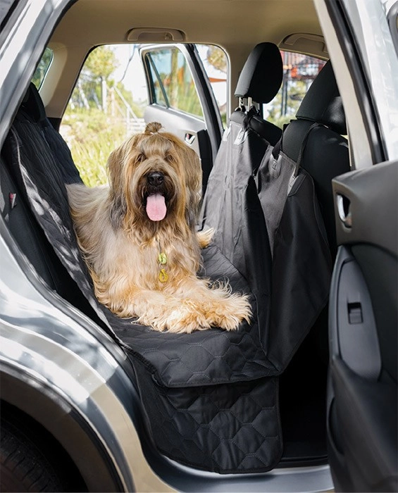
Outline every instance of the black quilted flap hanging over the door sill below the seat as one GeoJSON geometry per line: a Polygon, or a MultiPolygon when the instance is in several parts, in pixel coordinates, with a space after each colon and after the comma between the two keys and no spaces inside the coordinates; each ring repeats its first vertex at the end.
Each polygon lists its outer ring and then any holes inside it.
{"type": "Polygon", "coordinates": [[[277,377],[166,389],[135,368],[151,435],[166,456],[217,473],[264,472],[280,460],[277,377]]]}

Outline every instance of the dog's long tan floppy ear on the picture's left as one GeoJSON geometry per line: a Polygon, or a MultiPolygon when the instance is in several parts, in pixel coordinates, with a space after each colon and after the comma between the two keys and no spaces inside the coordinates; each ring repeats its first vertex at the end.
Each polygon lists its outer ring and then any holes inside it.
{"type": "Polygon", "coordinates": [[[108,181],[111,198],[111,223],[115,229],[121,226],[127,206],[125,194],[123,193],[123,161],[125,159],[126,144],[122,144],[111,152],[108,157],[108,181]]]}

